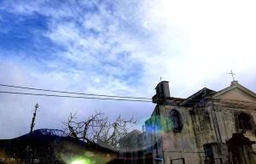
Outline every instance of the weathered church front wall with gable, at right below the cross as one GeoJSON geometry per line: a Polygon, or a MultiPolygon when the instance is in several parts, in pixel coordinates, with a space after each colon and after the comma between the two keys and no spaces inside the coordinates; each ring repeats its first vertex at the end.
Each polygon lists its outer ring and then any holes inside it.
{"type": "MultiPolygon", "coordinates": [[[[235,84],[234,84],[235,85],[235,84]]],[[[231,85],[232,87],[232,85],[231,85]]],[[[237,130],[236,113],[245,112],[253,117],[252,130],[246,130],[242,133],[250,140],[256,141],[255,138],[255,121],[256,121],[256,99],[255,94],[248,91],[247,88],[241,87],[236,83],[236,88],[222,93],[217,93],[213,96],[216,99],[214,102],[214,110],[218,119],[218,127],[221,134],[221,140],[225,143],[232,137],[233,133],[241,133],[237,130]],[[220,94],[219,94],[220,93],[220,94]],[[254,94],[254,96],[253,96],[254,94]]]]}

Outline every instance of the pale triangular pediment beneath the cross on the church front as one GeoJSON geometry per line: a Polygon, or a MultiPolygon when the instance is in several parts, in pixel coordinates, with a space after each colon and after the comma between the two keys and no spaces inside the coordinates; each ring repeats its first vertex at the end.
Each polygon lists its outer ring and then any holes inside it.
{"type": "Polygon", "coordinates": [[[240,84],[224,88],[212,95],[214,99],[229,99],[256,103],[256,94],[240,84]]]}

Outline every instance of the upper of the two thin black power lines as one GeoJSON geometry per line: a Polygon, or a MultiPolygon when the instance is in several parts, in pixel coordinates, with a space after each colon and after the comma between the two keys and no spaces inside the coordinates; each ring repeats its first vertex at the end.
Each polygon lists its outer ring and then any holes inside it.
{"type": "Polygon", "coordinates": [[[29,89],[29,90],[45,91],[45,92],[51,92],[51,93],[69,93],[69,94],[79,94],[79,95],[86,95],[86,96],[99,96],[99,97],[124,98],[124,99],[150,99],[150,98],[132,97],[132,96],[118,96],[118,95],[95,94],[95,93],[76,93],[76,92],[67,92],[67,91],[59,91],[59,90],[51,90],[51,89],[28,88],[28,87],[7,85],[7,84],[0,84],[0,86],[9,87],[9,88],[22,88],[22,89],[29,89]]]}

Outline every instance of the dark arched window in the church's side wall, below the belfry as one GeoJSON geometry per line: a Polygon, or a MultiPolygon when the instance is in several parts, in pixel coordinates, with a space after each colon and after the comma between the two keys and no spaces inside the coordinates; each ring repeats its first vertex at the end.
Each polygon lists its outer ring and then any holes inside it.
{"type": "Polygon", "coordinates": [[[170,111],[170,120],[172,123],[171,126],[172,126],[173,132],[179,132],[182,130],[182,128],[183,128],[182,117],[177,110],[170,111]]]}

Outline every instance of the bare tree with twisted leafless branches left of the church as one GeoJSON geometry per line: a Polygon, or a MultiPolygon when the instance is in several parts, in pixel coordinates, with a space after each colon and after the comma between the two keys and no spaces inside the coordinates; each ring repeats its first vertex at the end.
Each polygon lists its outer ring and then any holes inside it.
{"type": "Polygon", "coordinates": [[[82,122],[77,121],[76,113],[68,116],[67,122],[62,122],[64,131],[75,139],[81,139],[84,142],[93,142],[118,148],[119,139],[124,137],[136,120],[125,120],[119,115],[113,122],[110,122],[108,116],[101,112],[96,112],[82,122]]]}

